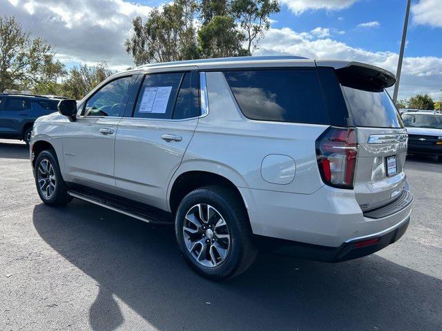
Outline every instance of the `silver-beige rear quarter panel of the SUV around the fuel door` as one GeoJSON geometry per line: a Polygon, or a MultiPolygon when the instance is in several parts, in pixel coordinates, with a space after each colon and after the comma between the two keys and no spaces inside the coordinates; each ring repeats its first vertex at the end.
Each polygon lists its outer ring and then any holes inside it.
{"type": "Polygon", "coordinates": [[[175,176],[186,169],[211,171],[238,187],[300,194],[323,186],[315,140],[327,126],[249,120],[240,112],[222,72],[207,72],[206,81],[209,114],[199,120],[175,176]],[[287,155],[295,161],[293,181],[278,184],[262,178],[262,161],[269,154],[287,155]]]}

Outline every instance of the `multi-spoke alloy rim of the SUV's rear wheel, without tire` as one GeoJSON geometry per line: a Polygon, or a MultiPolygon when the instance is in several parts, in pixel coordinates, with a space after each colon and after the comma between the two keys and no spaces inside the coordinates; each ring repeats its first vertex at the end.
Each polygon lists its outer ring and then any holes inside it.
{"type": "Polygon", "coordinates": [[[201,265],[216,267],[229,254],[229,227],[220,212],[211,205],[199,203],[190,208],[182,231],[187,250],[201,265]]]}

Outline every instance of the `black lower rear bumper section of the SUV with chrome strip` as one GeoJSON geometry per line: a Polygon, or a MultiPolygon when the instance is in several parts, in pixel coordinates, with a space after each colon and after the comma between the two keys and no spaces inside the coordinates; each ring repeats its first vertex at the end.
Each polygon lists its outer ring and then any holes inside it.
{"type": "Polygon", "coordinates": [[[335,263],[356,259],[358,257],[365,257],[378,250],[382,250],[387,247],[387,245],[398,241],[407,230],[409,223],[410,216],[383,232],[349,239],[338,247],[313,245],[260,235],[255,235],[254,241],[260,250],[267,252],[290,255],[302,259],[335,263]],[[369,241],[372,241],[372,243],[360,247],[361,243],[367,243],[369,241]]]}

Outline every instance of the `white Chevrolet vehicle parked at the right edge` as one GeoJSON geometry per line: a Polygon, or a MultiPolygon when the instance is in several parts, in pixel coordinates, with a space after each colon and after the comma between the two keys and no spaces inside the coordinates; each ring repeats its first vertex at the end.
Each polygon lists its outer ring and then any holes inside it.
{"type": "Polygon", "coordinates": [[[408,132],[410,154],[436,155],[442,161],[442,114],[437,110],[405,112],[402,120],[408,132]]]}

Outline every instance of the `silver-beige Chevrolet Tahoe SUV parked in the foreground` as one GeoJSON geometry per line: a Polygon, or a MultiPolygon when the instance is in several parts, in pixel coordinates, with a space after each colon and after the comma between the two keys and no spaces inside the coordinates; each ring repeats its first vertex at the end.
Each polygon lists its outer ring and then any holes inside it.
{"type": "Polygon", "coordinates": [[[210,279],[258,249],[320,261],[361,257],[410,220],[407,134],[363,63],[249,57],[157,63],[106,79],[40,117],[37,192],[173,223],[184,259],[210,279]]]}

